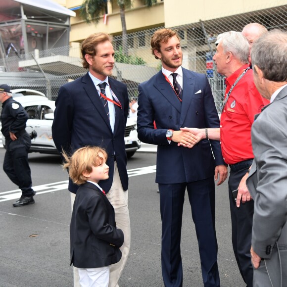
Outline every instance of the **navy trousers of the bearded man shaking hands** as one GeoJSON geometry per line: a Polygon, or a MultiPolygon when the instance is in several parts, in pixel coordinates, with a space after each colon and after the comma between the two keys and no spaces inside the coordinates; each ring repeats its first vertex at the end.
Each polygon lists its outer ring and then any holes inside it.
{"type": "Polygon", "coordinates": [[[220,286],[215,233],[214,178],[180,184],[159,184],[162,220],[161,265],[164,286],[182,287],[181,229],[187,189],[199,247],[205,287],[220,286]]]}

